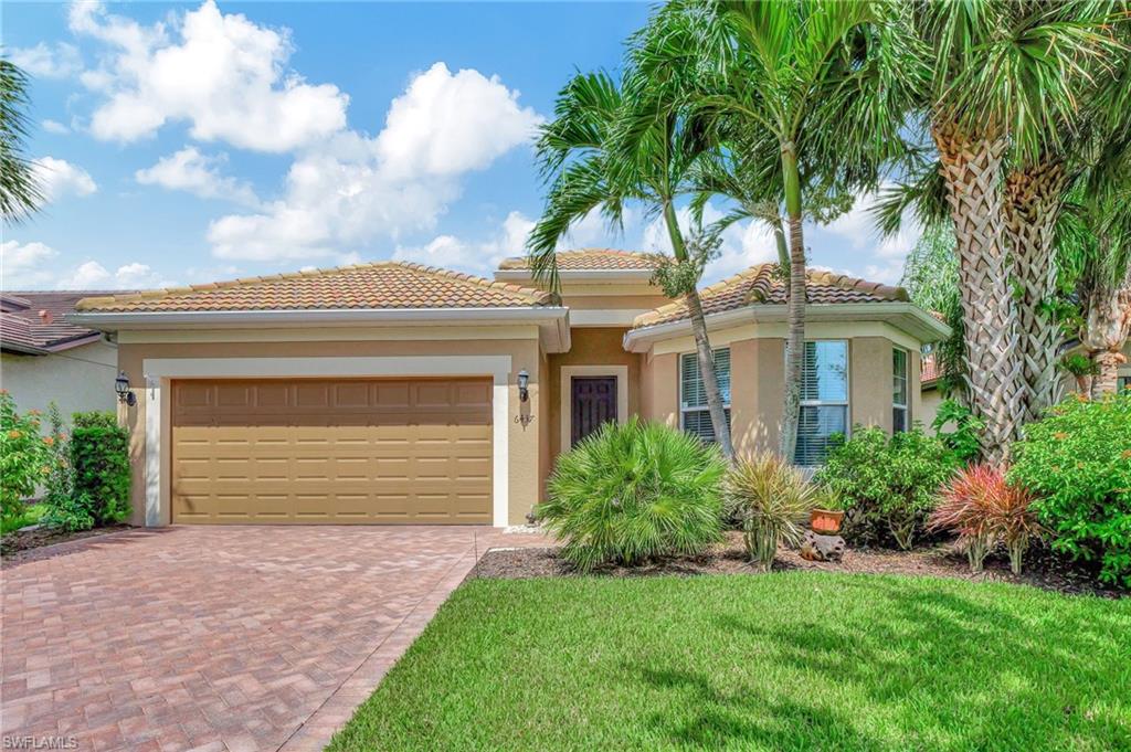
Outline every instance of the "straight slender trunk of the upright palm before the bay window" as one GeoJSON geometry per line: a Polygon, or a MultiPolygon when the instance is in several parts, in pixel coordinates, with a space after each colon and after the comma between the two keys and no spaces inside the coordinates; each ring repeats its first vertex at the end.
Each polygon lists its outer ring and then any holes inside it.
{"type": "Polygon", "coordinates": [[[785,340],[785,384],[782,406],[782,434],[778,453],[792,463],[797,449],[797,423],[801,420],[801,379],[805,357],[805,235],[801,215],[801,175],[792,141],[782,145],[785,176],[785,210],[789,222],[788,334],[785,340]]]}

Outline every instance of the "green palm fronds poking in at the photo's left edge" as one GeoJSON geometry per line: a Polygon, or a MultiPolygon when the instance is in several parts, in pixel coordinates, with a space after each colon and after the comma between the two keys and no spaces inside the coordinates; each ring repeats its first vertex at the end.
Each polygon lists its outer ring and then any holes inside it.
{"type": "Polygon", "coordinates": [[[27,138],[27,77],[0,58],[0,217],[19,222],[43,201],[33,164],[24,156],[27,138]]]}

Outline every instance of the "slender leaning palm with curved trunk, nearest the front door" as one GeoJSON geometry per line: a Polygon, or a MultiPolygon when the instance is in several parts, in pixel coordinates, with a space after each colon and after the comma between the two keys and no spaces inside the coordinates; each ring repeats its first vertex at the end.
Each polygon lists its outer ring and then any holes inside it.
{"type": "Polygon", "coordinates": [[[527,242],[529,265],[537,282],[558,292],[555,251],[573,223],[601,211],[620,226],[629,202],[658,214],[675,257],[673,273],[663,275],[665,294],[687,302],[711,426],[731,459],[731,430],[697,288],[711,244],[688,242],[675,206],[690,190],[689,175],[705,145],[666,93],[632,70],[623,86],[604,72],[579,74],[559,93],[554,120],[537,142],[550,190],[527,242]]]}

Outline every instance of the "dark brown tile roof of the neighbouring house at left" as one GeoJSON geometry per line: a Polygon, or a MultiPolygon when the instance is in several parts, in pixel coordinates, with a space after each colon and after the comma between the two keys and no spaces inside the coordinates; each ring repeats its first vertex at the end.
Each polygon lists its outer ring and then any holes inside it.
{"type": "MultiPolygon", "coordinates": [[[[120,291],[96,292],[95,295],[120,291]]],[[[101,335],[64,319],[89,291],[0,293],[0,348],[59,352],[85,345],[101,335]]]]}

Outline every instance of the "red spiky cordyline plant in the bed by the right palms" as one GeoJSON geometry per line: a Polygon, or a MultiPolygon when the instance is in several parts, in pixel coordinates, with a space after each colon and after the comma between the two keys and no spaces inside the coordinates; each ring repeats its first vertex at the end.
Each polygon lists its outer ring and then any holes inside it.
{"type": "Polygon", "coordinates": [[[994,546],[1003,544],[1009,552],[1010,569],[1020,574],[1029,541],[1043,533],[1030,509],[1033,501],[1029,491],[1005,483],[1004,469],[973,465],[943,487],[927,527],[958,533],[975,572],[982,571],[994,546]]]}

